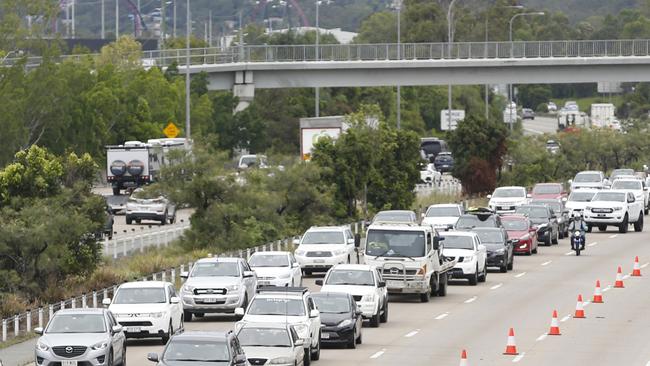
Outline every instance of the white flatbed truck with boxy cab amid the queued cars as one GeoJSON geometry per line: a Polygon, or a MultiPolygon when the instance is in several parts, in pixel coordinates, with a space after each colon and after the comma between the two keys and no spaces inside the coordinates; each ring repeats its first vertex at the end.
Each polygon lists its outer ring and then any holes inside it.
{"type": "Polygon", "coordinates": [[[368,227],[366,264],[377,267],[388,293],[445,296],[454,260],[442,254],[442,239],[433,226],[376,222],[368,227]]]}

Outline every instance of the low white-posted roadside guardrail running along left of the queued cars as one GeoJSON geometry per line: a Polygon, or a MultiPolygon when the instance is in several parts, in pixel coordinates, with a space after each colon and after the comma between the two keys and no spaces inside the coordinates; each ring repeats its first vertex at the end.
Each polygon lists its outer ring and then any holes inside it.
{"type": "MultiPolygon", "coordinates": [[[[364,222],[356,222],[350,224],[349,226],[354,233],[360,233],[365,230],[364,225],[364,222]]],[[[264,252],[271,250],[292,251],[294,249],[294,239],[295,237],[288,237],[254,248],[228,251],[219,253],[218,255],[224,257],[240,257],[246,258],[248,260],[251,254],[255,252],[264,252]]],[[[183,263],[160,272],[152,273],[148,276],[134,278],[133,280],[169,281],[178,288],[182,284],[180,274],[186,270],[189,271],[192,268],[192,265],[193,262],[183,263]]],[[[32,331],[35,327],[45,326],[47,322],[52,318],[54,313],[61,309],[101,307],[102,300],[108,297],[112,297],[118,287],[119,284],[114,284],[113,286],[107,288],[92,290],[90,293],[84,293],[80,296],[75,296],[57,303],[40,306],[36,309],[30,309],[23,313],[16,314],[12,317],[2,319],[2,338],[0,341],[6,342],[12,338],[32,334],[32,331]]]]}

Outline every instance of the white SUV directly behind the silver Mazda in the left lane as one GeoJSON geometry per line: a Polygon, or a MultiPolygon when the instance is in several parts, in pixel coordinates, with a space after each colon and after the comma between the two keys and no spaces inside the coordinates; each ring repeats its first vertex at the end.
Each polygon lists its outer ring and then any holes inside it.
{"type": "Polygon", "coordinates": [[[166,344],[183,330],[183,306],[169,282],[140,281],[120,285],[111,300],[102,301],[127,338],[162,338],[166,344]]]}

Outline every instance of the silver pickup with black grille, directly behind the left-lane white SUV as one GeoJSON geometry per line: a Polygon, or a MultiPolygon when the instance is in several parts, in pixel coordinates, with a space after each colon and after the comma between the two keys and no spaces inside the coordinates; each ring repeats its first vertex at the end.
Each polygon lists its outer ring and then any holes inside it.
{"type": "Polygon", "coordinates": [[[255,295],[257,276],[241,258],[203,258],[192,270],[181,273],[187,279],[181,288],[183,316],[205,313],[232,313],[248,305],[255,295]]]}

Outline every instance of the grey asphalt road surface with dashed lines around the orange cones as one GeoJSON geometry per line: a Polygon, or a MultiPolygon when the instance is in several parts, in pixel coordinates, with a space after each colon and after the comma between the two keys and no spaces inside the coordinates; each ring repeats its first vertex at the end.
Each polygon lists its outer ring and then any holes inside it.
{"type": "MultiPolygon", "coordinates": [[[[471,365],[647,365],[650,361],[650,233],[588,234],[588,247],[576,257],[568,240],[540,247],[539,254],[517,256],[514,270],[491,271],[487,282],[450,286],[444,298],[420,303],[391,297],[389,320],[379,328],[364,327],[356,350],[324,349],[316,365],[458,365],[466,349],[471,365]],[[624,289],[609,288],[617,266],[632,271],[638,255],[644,277],[625,279],[624,289]],[[600,280],[604,304],[590,304],[600,280]],[[578,294],[586,319],[573,319],[578,294]],[[546,336],[557,310],[561,336],[546,336]],[[506,356],[508,329],[515,330],[519,356],[506,356]]],[[[314,279],[305,283],[318,291],[314,279]]],[[[229,330],[231,316],[206,316],[186,323],[191,330],[229,330]]],[[[130,340],[130,364],[146,364],[148,352],[161,352],[159,340],[130,340]]]]}

